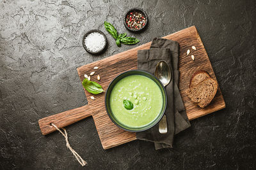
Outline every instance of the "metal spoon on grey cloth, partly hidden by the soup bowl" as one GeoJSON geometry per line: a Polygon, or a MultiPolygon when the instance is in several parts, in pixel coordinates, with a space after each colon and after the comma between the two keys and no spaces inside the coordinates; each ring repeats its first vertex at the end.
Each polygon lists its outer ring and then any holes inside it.
{"type": "MultiPolygon", "coordinates": [[[[155,76],[163,83],[164,87],[168,85],[171,81],[171,69],[169,65],[164,61],[161,60],[157,63],[156,65],[156,70],[155,70],[155,76]]],[[[166,115],[163,115],[163,118],[159,122],[159,132],[161,134],[167,133],[167,120],[166,120],[166,115]]]]}

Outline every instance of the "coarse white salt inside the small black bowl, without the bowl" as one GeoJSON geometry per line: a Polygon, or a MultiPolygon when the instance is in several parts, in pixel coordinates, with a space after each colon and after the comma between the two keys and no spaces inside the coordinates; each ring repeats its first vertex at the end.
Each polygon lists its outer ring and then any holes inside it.
{"type": "Polygon", "coordinates": [[[99,52],[105,46],[105,38],[99,32],[92,32],[84,39],[84,45],[91,52],[99,52]]]}

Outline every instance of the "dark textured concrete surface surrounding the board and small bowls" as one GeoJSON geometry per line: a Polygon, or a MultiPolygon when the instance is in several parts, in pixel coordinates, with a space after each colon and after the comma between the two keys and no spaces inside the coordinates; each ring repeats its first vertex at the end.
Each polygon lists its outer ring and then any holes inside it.
{"type": "MultiPolygon", "coordinates": [[[[133,141],[103,150],[92,117],[67,127],[85,169],[255,169],[255,1],[0,1],[0,169],[82,169],[63,136],[43,136],[38,119],[87,103],[76,68],[134,46],[117,48],[107,20],[127,32],[129,8],[147,11],[138,45],[195,25],[227,108],[191,122],[174,149],[133,141]],[[100,29],[109,41],[97,57],[81,45],[100,29]]],[[[132,33],[129,32],[129,36],[132,33]]],[[[83,168],[83,169],[84,169],[83,168]]]]}

